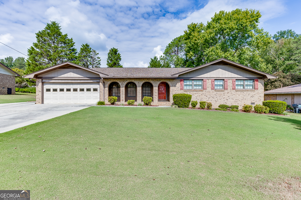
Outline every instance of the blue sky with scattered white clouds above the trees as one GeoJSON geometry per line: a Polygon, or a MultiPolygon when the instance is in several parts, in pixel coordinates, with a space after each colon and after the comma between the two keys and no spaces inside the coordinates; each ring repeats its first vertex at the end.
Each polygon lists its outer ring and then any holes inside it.
{"type": "MultiPolygon", "coordinates": [[[[107,67],[107,52],[119,49],[123,67],[147,67],[191,22],[206,24],[214,13],[236,8],[259,10],[259,26],[270,34],[293,29],[301,34],[301,1],[281,0],[0,0],[0,42],[27,54],[35,33],[46,23],[60,23],[79,49],[88,43],[107,67]]],[[[0,44],[0,58],[22,56],[0,44]]]]}

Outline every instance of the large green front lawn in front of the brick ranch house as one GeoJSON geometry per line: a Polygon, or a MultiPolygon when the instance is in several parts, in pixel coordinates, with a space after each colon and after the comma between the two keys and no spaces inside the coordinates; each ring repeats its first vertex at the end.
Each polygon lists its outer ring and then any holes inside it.
{"type": "Polygon", "coordinates": [[[300,124],[301,115],[89,107],[1,133],[0,188],[31,199],[300,199],[300,124]]]}

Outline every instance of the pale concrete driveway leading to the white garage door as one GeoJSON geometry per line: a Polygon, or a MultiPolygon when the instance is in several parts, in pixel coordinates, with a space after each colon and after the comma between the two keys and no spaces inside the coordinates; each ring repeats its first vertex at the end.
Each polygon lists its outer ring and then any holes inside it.
{"type": "Polygon", "coordinates": [[[66,115],[93,105],[95,104],[1,103],[0,133],[66,115]]]}

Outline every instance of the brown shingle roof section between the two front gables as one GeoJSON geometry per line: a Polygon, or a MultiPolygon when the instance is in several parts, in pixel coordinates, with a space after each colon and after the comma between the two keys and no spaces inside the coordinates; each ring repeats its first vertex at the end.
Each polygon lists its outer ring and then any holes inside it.
{"type": "MultiPolygon", "coordinates": [[[[130,67],[103,67],[93,70],[109,75],[109,77],[170,77],[191,68],[130,68],[130,67]]],[[[177,76],[175,76],[177,77],[177,76]]],[[[107,78],[107,77],[104,77],[107,78]]]]}

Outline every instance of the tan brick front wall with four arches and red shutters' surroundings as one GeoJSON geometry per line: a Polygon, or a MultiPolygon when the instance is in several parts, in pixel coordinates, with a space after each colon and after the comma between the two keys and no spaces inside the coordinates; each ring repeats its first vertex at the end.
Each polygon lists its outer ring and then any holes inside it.
{"type": "MultiPolygon", "coordinates": [[[[209,101],[213,104],[213,108],[217,108],[220,104],[238,105],[240,108],[244,104],[262,104],[264,100],[264,80],[258,80],[258,90],[232,90],[232,79],[228,80],[228,90],[211,90],[211,79],[207,79],[206,90],[180,90],[180,79],[105,79],[105,102],[108,103],[108,87],[111,82],[120,84],[120,102],[125,103],[125,85],[127,82],[134,82],[137,85],[137,102],[141,103],[141,86],[144,82],[151,82],[154,87],[153,105],[170,106],[172,105],[172,94],[185,93],[191,94],[191,100],[209,101]],[[167,82],[170,86],[169,102],[158,102],[158,85],[160,82],[167,82]]],[[[102,98],[102,97],[101,97],[102,98]]],[[[199,104],[198,104],[199,106],[199,104]]]]}

